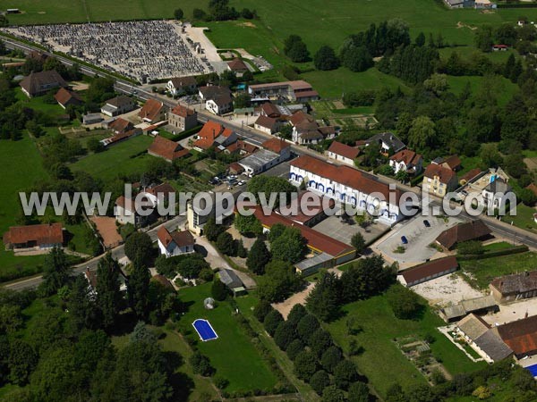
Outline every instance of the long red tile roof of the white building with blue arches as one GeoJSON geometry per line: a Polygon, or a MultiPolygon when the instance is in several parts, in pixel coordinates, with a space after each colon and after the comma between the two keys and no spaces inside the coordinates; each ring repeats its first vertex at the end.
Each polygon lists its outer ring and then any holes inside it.
{"type": "MultiPolygon", "coordinates": [[[[312,172],[337,183],[344,184],[347,187],[357,189],[364,194],[380,193],[385,200],[389,200],[389,187],[387,184],[381,183],[374,176],[365,172],[357,171],[350,166],[334,165],[321,161],[310,155],[302,155],[293,162],[291,166],[303,169],[306,172],[312,172]]],[[[401,197],[401,191],[394,190],[395,201],[398,202],[401,197]]]]}

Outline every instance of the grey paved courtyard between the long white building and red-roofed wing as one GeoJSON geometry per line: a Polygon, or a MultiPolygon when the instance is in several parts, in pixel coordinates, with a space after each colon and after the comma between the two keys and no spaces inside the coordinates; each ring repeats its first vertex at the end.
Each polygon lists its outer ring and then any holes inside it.
{"type": "Polygon", "coordinates": [[[363,239],[369,242],[389,230],[388,226],[378,222],[373,222],[364,229],[354,219],[343,221],[339,216],[328,216],[327,219],[313,226],[313,229],[349,245],[355,233],[362,233],[363,239]]]}

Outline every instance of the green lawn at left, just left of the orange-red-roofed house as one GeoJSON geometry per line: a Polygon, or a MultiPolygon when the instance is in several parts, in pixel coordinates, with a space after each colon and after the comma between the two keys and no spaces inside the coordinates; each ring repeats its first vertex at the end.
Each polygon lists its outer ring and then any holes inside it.
{"type": "Polygon", "coordinates": [[[73,171],[88,172],[102,180],[112,180],[117,176],[142,173],[147,161],[152,156],[138,155],[146,150],[153,138],[139,136],[107,148],[99,154],[88,155],[76,163],[72,163],[73,171]]]}

